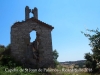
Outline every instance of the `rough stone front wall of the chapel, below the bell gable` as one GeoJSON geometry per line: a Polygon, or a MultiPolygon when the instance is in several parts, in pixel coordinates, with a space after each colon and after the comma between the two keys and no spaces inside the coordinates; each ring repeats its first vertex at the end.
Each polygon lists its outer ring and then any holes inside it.
{"type": "MultiPolygon", "coordinates": [[[[40,21],[39,21],[40,22],[40,21]]],[[[52,37],[51,31],[53,28],[41,25],[33,18],[23,22],[17,22],[11,27],[11,52],[12,55],[21,62],[25,62],[25,51],[27,50],[27,44],[30,43],[30,32],[33,30],[38,34],[39,39],[39,60],[38,67],[49,67],[53,65],[52,56],[52,37]]],[[[33,40],[34,41],[34,40],[33,40]]],[[[33,60],[31,58],[31,60],[33,60]]],[[[34,61],[34,60],[33,60],[34,61]]],[[[35,63],[29,61],[31,63],[35,63]]]]}

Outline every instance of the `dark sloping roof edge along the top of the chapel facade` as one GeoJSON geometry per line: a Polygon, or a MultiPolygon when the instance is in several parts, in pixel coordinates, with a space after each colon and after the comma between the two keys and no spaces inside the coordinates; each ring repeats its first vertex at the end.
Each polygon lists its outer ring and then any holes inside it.
{"type": "Polygon", "coordinates": [[[22,23],[27,22],[27,21],[30,21],[30,20],[32,20],[33,22],[36,22],[36,23],[38,23],[38,24],[40,24],[40,25],[43,25],[43,26],[45,26],[45,27],[48,27],[48,28],[50,28],[50,29],[54,29],[54,27],[52,27],[51,25],[49,25],[49,24],[47,24],[47,23],[45,23],[45,22],[42,22],[42,21],[40,21],[40,20],[38,20],[38,19],[36,19],[36,18],[34,18],[34,17],[29,18],[29,19],[27,19],[26,21],[22,21],[22,22],[19,22],[19,21],[18,21],[18,22],[15,22],[15,23],[12,25],[11,28],[15,28],[15,27],[18,26],[18,24],[22,24],[22,23]]]}

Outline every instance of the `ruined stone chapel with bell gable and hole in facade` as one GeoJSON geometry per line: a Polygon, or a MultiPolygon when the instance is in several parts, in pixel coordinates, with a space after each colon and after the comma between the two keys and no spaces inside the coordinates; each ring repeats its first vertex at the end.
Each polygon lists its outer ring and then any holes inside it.
{"type": "Polygon", "coordinates": [[[52,36],[54,29],[38,20],[38,9],[25,7],[25,21],[16,22],[11,27],[11,54],[26,67],[52,67],[52,36]],[[29,14],[33,17],[30,18],[29,14]],[[30,42],[30,32],[36,31],[36,39],[30,42]]]}

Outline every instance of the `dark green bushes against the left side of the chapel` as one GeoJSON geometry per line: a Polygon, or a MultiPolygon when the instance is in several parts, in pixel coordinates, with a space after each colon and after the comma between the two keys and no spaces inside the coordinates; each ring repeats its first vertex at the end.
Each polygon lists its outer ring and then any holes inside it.
{"type": "Polygon", "coordinates": [[[8,68],[13,68],[16,66],[21,66],[22,64],[10,55],[10,44],[5,47],[5,50],[0,54],[0,65],[7,66],[8,68]]]}

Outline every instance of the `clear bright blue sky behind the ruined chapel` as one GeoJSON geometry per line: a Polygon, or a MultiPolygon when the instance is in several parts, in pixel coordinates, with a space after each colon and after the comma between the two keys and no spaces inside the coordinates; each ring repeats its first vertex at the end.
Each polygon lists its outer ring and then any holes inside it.
{"type": "MultiPolygon", "coordinates": [[[[0,0],[0,44],[10,43],[11,26],[25,20],[25,6],[37,7],[38,19],[54,27],[52,45],[58,61],[83,60],[91,52],[81,31],[100,28],[100,0],[0,0]]],[[[34,32],[30,36],[36,37],[34,32]]]]}

